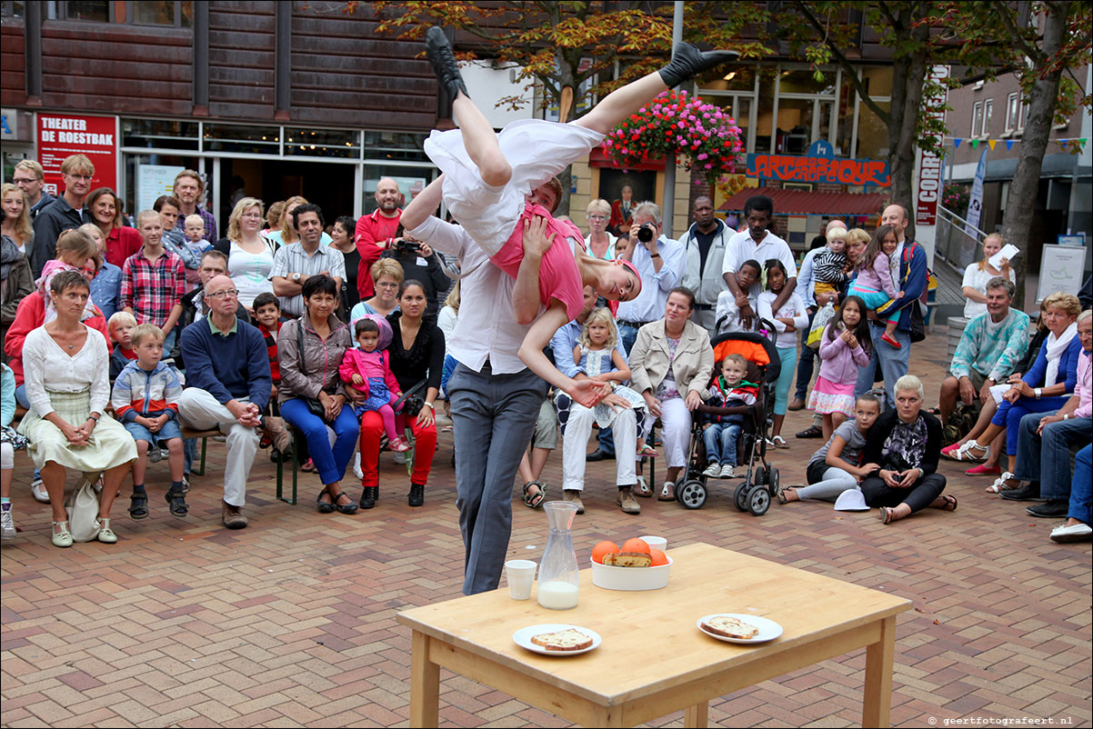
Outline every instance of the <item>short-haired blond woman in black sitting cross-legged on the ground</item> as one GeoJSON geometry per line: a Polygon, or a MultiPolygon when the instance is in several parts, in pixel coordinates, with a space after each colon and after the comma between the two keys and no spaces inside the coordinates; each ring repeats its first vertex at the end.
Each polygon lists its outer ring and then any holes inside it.
{"type": "Polygon", "coordinates": [[[953,512],[956,497],[942,494],[945,477],[938,473],[941,421],[922,412],[922,380],[904,375],[895,383],[895,410],[869,430],[861,460],[881,468],[861,482],[866,504],[891,524],[930,506],[953,512]]]}

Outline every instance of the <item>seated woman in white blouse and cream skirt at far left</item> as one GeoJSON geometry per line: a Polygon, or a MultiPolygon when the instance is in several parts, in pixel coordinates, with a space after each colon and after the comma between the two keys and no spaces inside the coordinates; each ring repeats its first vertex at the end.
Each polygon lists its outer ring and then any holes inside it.
{"type": "Polygon", "coordinates": [[[106,342],[80,321],[90,289],[79,271],[54,277],[49,295],[57,318],[23,342],[26,398],[31,408],[19,432],[42,471],[54,513],[52,541],[71,546],[64,512],[64,469],[105,471],[98,503],[98,541],[118,541],[110,529],[110,506],[137,458],[137,444],[113,418],[102,418],[110,399],[106,342]]]}

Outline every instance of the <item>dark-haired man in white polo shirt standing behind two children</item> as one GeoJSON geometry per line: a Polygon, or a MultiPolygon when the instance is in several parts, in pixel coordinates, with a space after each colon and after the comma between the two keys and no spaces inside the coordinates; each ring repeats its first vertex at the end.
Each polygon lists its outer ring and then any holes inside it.
{"type": "MultiPolygon", "coordinates": [[[[774,201],[771,198],[764,195],[754,195],[748,198],[744,203],[744,217],[748,220],[748,230],[729,238],[728,248],[725,251],[722,267],[725,283],[729,286],[732,295],[739,297],[743,292],[740,291],[740,283],[737,281],[737,268],[749,259],[759,261],[760,266],[765,268],[766,261],[777,258],[786,267],[788,274],[786,285],[783,286],[777,298],[774,299],[774,304],[771,305],[772,310],[777,311],[789,301],[789,296],[797,289],[797,262],[794,260],[789,244],[766,230],[774,220],[774,201]]],[[[757,297],[760,291],[761,286],[756,281],[751,286],[752,297],[757,297]]],[[[745,328],[750,328],[754,318],[755,311],[751,306],[744,306],[740,309],[740,319],[745,328]]]]}

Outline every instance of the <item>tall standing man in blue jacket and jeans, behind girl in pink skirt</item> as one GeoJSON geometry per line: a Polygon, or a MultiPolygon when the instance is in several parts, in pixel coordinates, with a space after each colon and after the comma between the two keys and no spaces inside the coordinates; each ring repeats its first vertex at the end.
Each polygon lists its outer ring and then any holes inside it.
{"type": "Polygon", "coordinates": [[[896,299],[890,308],[878,309],[878,314],[888,316],[893,311],[900,311],[900,324],[895,330],[895,339],[903,346],[897,350],[881,341],[881,334],[884,333],[884,322],[874,318],[870,311],[869,333],[873,340],[873,353],[869,358],[869,364],[858,372],[858,383],[854,388],[855,397],[868,392],[873,387],[877,365],[880,364],[889,408],[895,407],[892,386],[895,385],[895,380],[907,374],[907,364],[910,362],[912,320],[917,318],[918,329],[922,328],[922,313],[918,308],[918,298],[926,292],[926,286],[929,284],[926,249],[906,238],[908,222],[907,209],[903,205],[889,205],[881,214],[881,224],[895,227],[896,236],[900,239],[900,245],[896,246],[895,254],[891,257],[891,264],[896,289],[904,292],[904,295],[896,299]],[[898,274],[898,278],[895,274],[898,274]]]}

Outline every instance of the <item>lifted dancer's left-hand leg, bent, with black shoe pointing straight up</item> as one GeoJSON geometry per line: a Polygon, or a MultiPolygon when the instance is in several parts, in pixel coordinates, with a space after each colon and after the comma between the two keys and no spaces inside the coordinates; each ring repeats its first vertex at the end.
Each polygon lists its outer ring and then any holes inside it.
{"type": "Polygon", "coordinates": [[[436,26],[428,28],[425,50],[437,80],[451,96],[451,113],[459,121],[463,148],[479,168],[482,181],[491,187],[504,187],[513,176],[513,167],[501,152],[493,126],[467,94],[459,63],[444,31],[436,26]]]}

